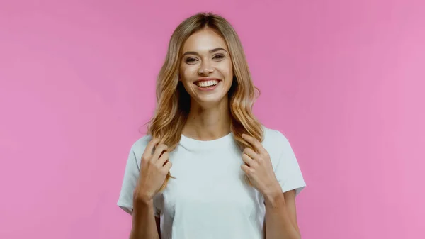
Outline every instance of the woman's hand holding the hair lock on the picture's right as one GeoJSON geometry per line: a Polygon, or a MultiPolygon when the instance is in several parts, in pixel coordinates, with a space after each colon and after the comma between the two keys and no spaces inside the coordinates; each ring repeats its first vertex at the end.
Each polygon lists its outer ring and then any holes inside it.
{"type": "Polygon", "coordinates": [[[242,138],[251,143],[255,150],[245,148],[242,152],[242,160],[245,164],[241,168],[248,176],[251,184],[263,195],[281,191],[267,150],[254,137],[242,134],[242,138]]]}

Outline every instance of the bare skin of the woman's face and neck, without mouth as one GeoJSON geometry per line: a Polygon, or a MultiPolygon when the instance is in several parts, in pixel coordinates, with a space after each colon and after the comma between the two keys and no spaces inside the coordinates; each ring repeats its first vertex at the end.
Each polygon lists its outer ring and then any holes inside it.
{"type": "Polygon", "coordinates": [[[191,96],[191,109],[183,135],[214,140],[230,133],[227,92],[232,86],[233,65],[225,40],[210,29],[191,35],[183,45],[180,81],[191,96]],[[214,91],[201,91],[196,80],[220,79],[214,91]]]}

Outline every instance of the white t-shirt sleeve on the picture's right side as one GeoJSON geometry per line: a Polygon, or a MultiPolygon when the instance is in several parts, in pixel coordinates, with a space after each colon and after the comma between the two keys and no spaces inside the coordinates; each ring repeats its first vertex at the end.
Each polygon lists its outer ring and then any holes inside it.
{"type": "Polygon", "coordinates": [[[276,178],[283,192],[295,189],[295,196],[297,196],[305,188],[305,180],[288,139],[282,133],[278,132],[278,134],[276,142],[281,150],[275,169],[276,178]]]}

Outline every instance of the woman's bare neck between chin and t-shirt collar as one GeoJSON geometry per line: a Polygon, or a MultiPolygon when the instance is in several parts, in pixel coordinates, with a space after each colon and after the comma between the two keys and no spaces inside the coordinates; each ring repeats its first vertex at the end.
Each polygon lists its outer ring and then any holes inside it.
{"type": "Polygon", "coordinates": [[[196,140],[215,140],[230,133],[230,124],[228,101],[208,108],[191,105],[182,133],[196,140]]]}

